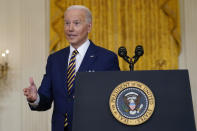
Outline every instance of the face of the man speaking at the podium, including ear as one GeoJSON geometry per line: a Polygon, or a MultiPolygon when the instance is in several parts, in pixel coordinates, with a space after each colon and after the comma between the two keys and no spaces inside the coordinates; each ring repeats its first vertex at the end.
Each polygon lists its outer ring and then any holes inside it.
{"type": "Polygon", "coordinates": [[[68,42],[78,48],[88,39],[91,23],[86,20],[84,10],[72,9],[64,14],[64,33],[68,42]]]}

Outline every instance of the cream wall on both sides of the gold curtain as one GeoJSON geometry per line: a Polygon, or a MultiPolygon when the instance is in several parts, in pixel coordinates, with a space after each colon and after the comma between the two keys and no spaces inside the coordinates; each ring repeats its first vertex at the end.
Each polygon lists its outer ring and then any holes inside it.
{"type": "MultiPolygon", "coordinates": [[[[197,0],[180,0],[180,68],[189,69],[197,120],[197,0]]],[[[39,86],[49,48],[49,0],[0,0],[0,52],[10,50],[7,81],[0,81],[0,131],[50,131],[51,112],[32,112],[22,89],[39,86]]]]}

